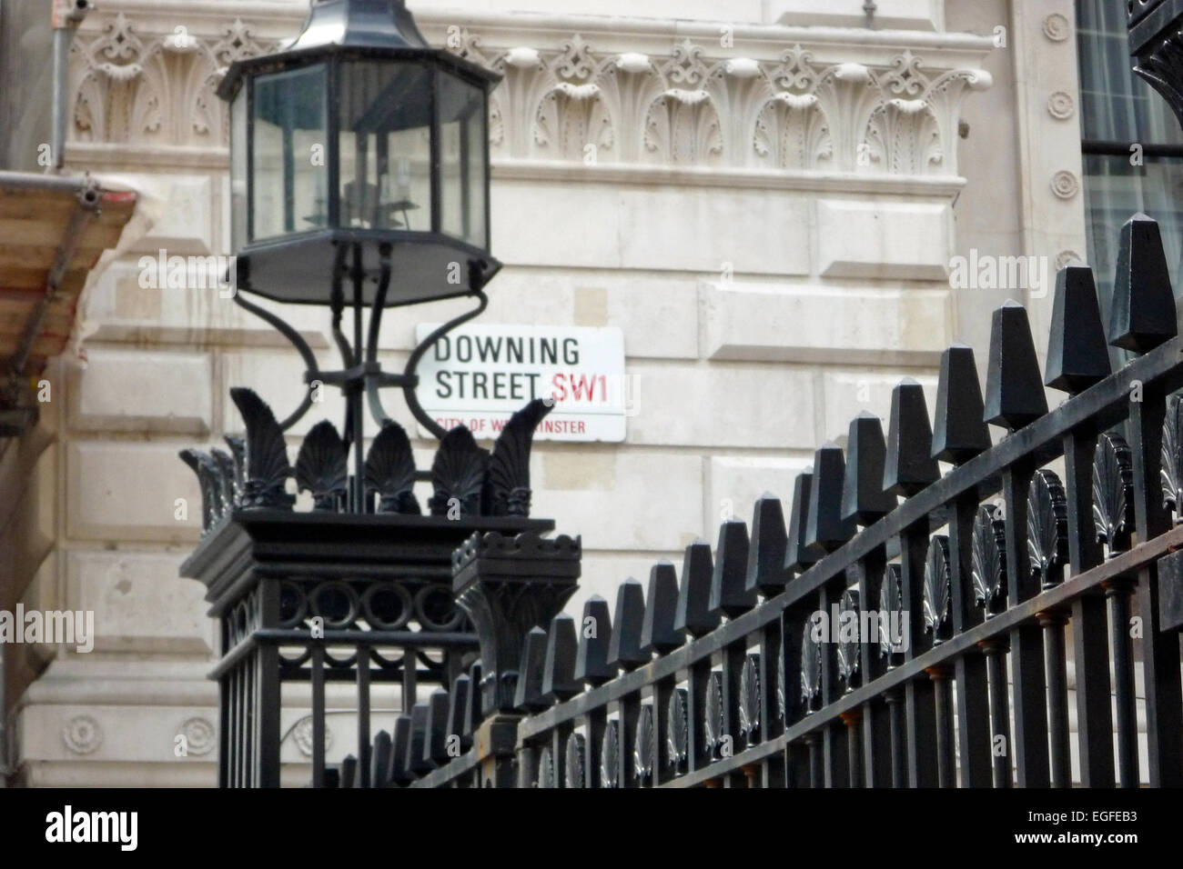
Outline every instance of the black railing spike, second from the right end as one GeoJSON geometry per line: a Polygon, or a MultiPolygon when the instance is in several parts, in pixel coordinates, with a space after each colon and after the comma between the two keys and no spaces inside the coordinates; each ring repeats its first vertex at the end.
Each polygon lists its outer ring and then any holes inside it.
{"type": "Polygon", "coordinates": [[[1075,395],[1110,376],[1108,348],[1093,270],[1073,264],[1055,275],[1043,384],[1075,395]]]}

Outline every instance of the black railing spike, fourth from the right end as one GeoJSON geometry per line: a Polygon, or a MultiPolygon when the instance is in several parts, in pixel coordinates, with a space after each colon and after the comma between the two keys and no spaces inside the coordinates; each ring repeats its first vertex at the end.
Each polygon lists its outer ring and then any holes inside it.
{"type": "Polygon", "coordinates": [[[990,429],[984,411],[974,348],[952,344],[940,355],[932,458],[963,465],[989,449],[990,429]]]}

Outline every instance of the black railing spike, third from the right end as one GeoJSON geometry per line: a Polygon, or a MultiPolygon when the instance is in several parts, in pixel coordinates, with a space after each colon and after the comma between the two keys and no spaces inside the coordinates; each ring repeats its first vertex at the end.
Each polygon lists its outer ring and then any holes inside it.
{"type": "Polygon", "coordinates": [[[1027,309],[1013,299],[995,309],[985,369],[983,419],[1011,432],[1047,414],[1043,378],[1027,309]]]}

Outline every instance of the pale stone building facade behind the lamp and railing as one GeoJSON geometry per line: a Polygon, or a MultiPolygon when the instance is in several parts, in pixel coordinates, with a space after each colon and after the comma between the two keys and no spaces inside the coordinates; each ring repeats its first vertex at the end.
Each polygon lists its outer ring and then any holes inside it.
{"type": "MultiPolygon", "coordinates": [[[[542,442],[532,460],[534,513],[583,536],[573,608],[680,558],[720,515],[746,518],[764,491],[789,498],[815,447],[859,410],[885,416],[901,376],[935,390],[948,344],[984,348],[1006,298],[1046,335],[1046,284],[955,288],[955,258],[1043,258],[1054,278],[1086,253],[1069,0],[411,6],[433,44],[504,74],[490,138],[506,265],[480,323],[623,331],[626,440],[542,442]]],[[[134,184],[154,225],[85,300],[83,356],[54,363],[39,428],[0,446],[0,609],[96,614],[90,654],[8,656],[25,783],[215,782],[213,623],[177,578],[200,511],[176,505],[200,495],[177,450],[241,429],[232,385],[286,413],[303,368],[216,291],[144,286],[141,258],[231,253],[214,90],[305,11],[104,0],[75,38],[66,166],[134,184]]],[[[419,323],[467,304],[395,310],[388,368],[419,323]]],[[[284,314],[330,364],[327,314],[284,314]]],[[[292,442],[340,421],[335,401],[292,442]]],[[[414,446],[426,467],[431,442],[414,446]]],[[[293,764],[302,720],[285,728],[293,764]]]]}

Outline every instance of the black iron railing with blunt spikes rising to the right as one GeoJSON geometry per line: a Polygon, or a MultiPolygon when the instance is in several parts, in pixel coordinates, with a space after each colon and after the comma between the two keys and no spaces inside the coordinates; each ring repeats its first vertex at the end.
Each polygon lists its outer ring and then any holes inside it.
{"type": "MultiPolygon", "coordinates": [[[[713,556],[687,547],[680,583],[661,563],[612,614],[593,598],[537,621],[500,674],[512,708],[448,712],[471,693],[458,680],[399,720],[407,754],[375,783],[1183,784],[1183,338],[1153,221],[1125,226],[1120,261],[1107,335],[1082,266],[1059,274],[1045,376],[1024,310],[1003,306],[984,395],[972,350],[951,348],[935,424],[900,384],[886,439],[861,415],[845,455],[817,450],[788,528],[765,495],[750,536],[731,520],[713,556]],[[1142,355],[1110,372],[1107,344],[1142,355]],[[1045,377],[1069,395],[1054,409],[1045,377]],[[1007,430],[994,446],[987,420],[1007,430]]],[[[489,543],[458,552],[458,586],[489,543]]]]}

